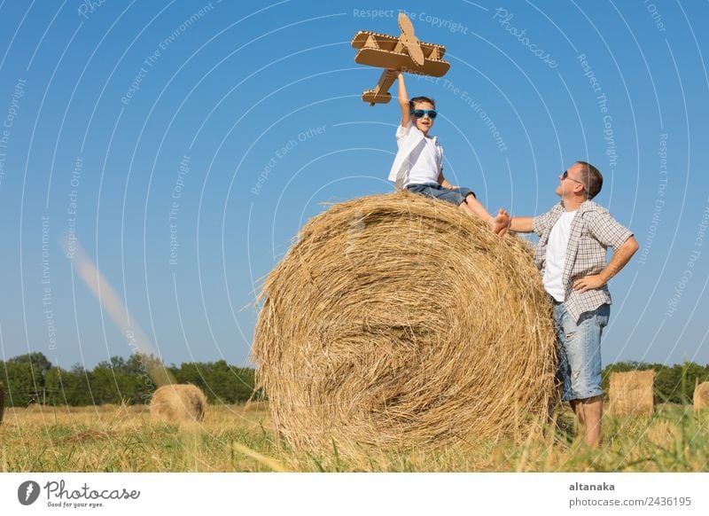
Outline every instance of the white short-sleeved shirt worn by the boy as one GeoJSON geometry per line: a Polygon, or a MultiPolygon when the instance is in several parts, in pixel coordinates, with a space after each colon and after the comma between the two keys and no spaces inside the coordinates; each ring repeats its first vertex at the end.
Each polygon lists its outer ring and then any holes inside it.
{"type": "Polygon", "coordinates": [[[409,121],[407,127],[400,125],[396,129],[396,144],[399,152],[389,171],[389,181],[396,184],[397,190],[407,184],[438,183],[443,168],[443,148],[438,137],[425,137],[414,122],[409,121]]]}

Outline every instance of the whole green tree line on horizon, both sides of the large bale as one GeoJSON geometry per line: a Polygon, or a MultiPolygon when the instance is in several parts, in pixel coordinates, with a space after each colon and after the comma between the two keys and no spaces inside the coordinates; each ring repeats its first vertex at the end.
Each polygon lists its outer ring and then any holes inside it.
{"type": "MultiPolygon", "coordinates": [[[[52,365],[42,353],[29,353],[0,361],[0,381],[5,386],[5,406],[102,405],[150,403],[155,390],[155,371],[162,363],[154,356],[112,356],[92,370],[80,364],[66,370],[52,365]],[[151,371],[152,374],[148,374],[151,371]]],[[[244,403],[253,396],[254,370],[234,367],[225,361],[188,362],[165,368],[177,383],[201,388],[209,403],[244,403]]],[[[619,362],[607,365],[602,376],[608,392],[612,372],[655,371],[655,403],[691,403],[697,383],[709,381],[709,364],[646,364],[619,362]]],[[[164,373],[163,373],[164,374],[164,373]]]]}

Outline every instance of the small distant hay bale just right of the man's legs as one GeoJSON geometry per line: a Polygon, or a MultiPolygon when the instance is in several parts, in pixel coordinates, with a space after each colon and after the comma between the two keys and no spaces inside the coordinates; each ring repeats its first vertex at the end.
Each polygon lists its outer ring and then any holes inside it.
{"type": "Polygon", "coordinates": [[[655,371],[611,373],[609,398],[613,416],[651,416],[655,371]]]}

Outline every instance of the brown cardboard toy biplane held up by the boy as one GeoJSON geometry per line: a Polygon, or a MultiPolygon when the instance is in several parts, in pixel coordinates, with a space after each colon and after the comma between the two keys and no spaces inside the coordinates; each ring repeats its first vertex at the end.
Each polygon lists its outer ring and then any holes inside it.
{"type": "Polygon", "coordinates": [[[441,59],[446,47],[418,41],[411,20],[403,12],[399,13],[399,28],[401,35],[398,37],[361,30],[352,40],[352,46],[359,49],[354,62],[385,68],[377,86],[362,92],[362,100],[369,102],[370,106],[386,104],[392,99],[389,88],[394,79],[387,77],[386,70],[442,77],[450,68],[450,63],[441,59]]]}

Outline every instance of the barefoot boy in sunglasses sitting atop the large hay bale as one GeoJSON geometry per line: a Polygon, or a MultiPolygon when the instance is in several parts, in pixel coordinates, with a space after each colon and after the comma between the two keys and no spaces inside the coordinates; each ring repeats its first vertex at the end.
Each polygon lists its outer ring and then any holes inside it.
{"type": "Polygon", "coordinates": [[[443,149],[438,139],[428,134],[437,114],[432,98],[416,97],[409,101],[404,75],[397,70],[388,73],[399,80],[401,106],[401,124],[396,129],[399,152],[389,172],[389,181],[393,181],[398,190],[406,189],[455,204],[468,215],[487,221],[491,231],[503,235],[510,226],[510,215],[505,210],[500,208],[496,216],[489,215],[471,190],[454,186],[443,177],[443,149]]]}

